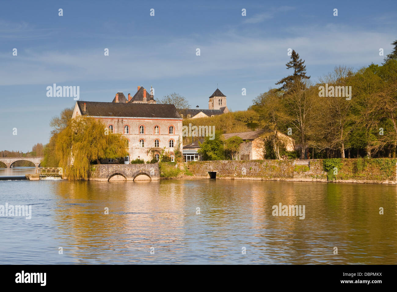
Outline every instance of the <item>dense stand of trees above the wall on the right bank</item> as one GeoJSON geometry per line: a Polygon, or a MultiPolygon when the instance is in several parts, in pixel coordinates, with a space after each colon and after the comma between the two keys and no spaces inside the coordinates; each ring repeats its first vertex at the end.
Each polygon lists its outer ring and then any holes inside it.
{"type": "Polygon", "coordinates": [[[295,139],[301,158],[395,157],[397,41],[393,44],[381,66],[372,63],[357,71],[337,66],[316,84],[293,50],[286,64],[293,73],[249,108],[258,114],[260,128],[275,133],[269,137],[271,151],[281,144],[280,131],[295,139]]]}

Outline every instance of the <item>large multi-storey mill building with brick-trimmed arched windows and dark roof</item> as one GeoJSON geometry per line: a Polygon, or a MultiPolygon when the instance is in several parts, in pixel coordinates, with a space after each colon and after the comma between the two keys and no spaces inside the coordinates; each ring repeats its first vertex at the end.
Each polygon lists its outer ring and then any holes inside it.
{"type": "MultiPolygon", "coordinates": [[[[156,104],[153,95],[138,87],[137,93],[128,99],[118,92],[112,102],[77,101],[73,111],[76,116],[93,117],[103,122],[109,133],[122,133],[128,139],[128,157],[150,161],[161,151],[169,152],[172,159],[177,143],[182,149],[182,118],[173,104],[156,104]],[[151,150],[154,151],[152,156],[151,150]]],[[[112,163],[112,159],[103,161],[112,163]]]]}

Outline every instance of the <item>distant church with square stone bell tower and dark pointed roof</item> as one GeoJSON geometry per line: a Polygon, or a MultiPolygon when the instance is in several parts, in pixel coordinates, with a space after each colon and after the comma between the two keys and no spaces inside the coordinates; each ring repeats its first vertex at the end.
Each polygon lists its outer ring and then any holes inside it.
{"type": "Polygon", "coordinates": [[[196,106],[196,109],[190,108],[181,111],[181,117],[192,119],[206,118],[229,112],[229,109],[226,105],[226,95],[224,95],[218,88],[216,89],[216,91],[214,91],[214,93],[212,93],[209,99],[210,100],[208,101],[208,110],[199,109],[198,106],[196,106]]]}

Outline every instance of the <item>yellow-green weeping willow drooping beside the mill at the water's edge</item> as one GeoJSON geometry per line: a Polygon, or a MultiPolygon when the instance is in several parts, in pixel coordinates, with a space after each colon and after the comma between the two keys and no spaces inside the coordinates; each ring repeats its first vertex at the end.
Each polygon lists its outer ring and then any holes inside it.
{"type": "Polygon", "coordinates": [[[109,133],[100,121],[77,117],[56,137],[55,152],[69,180],[87,180],[92,161],[127,156],[126,143],[125,137],[109,133]]]}

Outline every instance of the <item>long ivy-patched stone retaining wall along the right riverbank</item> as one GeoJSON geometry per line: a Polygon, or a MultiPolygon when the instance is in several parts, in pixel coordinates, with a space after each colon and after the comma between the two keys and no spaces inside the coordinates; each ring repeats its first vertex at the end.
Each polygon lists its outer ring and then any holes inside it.
{"type": "Polygon", "coordinates": [[[337,175],[328,180],[324,159],[255,160],[255,161],[195,161],[183,162],[183,168],[193,176],[235,180],[287,180],[309,182],[350,182],[396,184],[396,159],[340,159],[337,175]],[[213,175],[213,174],[212,174],[213,175]]]}

